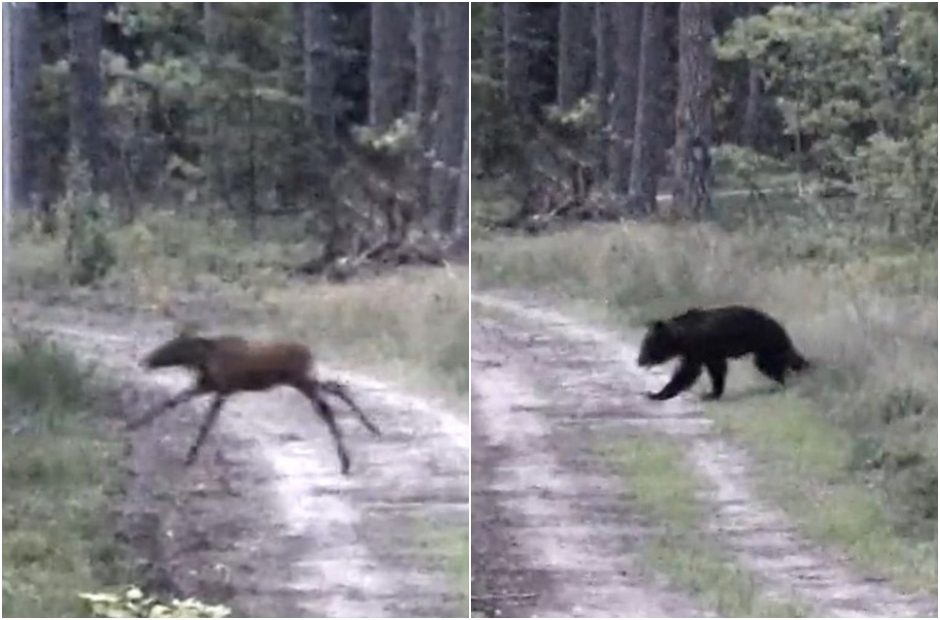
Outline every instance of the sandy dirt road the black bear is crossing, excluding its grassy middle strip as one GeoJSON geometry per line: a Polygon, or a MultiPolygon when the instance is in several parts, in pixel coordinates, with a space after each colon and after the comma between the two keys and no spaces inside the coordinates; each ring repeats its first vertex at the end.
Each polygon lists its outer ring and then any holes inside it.
{"type": "Polygon", "coordinates": [[[479,611],[701,615],[644,575],[631,548],[643,525],[591,452],[601,439],[657,433],[685,442],[687,466],[705,489],[708,531],[771,597],[829,617],[936,615],[935,600],[894,592],[802,538],[754,493],[747,454],[718,437],[693,400],[643,398],[666,380],[664,371],[638,369],[635,348],[616,334],[529,295],[479,295],[474,302],[490,311],[475,312],[473,333],[479,611]]]}

